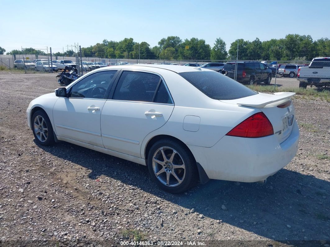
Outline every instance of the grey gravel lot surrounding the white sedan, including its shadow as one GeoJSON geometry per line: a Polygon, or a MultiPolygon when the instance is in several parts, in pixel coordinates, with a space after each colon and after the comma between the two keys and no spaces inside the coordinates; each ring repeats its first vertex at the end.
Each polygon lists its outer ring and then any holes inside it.
{"type": "Polygon", "coordinates": [[[172,195],[145,166],[65,142],[36,145],[25,111],[59,87],[55,76],[0,72],[1,246],[120,246],[135,235],[156,244],[329,247],[330,103],[293,100],[298,154],[265,185],[212,180],[172,195]]]}

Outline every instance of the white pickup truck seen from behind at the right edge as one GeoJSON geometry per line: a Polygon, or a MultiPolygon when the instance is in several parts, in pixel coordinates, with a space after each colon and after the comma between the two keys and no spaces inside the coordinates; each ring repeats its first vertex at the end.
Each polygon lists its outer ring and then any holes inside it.
{"type": "Polygon", "coordinates": [[[330,57],[315,57],[308,67],[300,67],[297,80],[303,88],[330,86],[330,57]]]}

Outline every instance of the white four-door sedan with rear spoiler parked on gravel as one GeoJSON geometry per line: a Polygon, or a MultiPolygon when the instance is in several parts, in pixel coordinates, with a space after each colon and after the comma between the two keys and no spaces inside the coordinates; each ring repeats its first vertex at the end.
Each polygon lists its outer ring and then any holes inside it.
{"type": "Polygon", "coordinates": [[[208,69],[100,68],[31,101],[36,142],[67,141],[148,166],[163,190],[198,180],[264,181],[298,149],[290,97],[264,94],[208,69]]]}

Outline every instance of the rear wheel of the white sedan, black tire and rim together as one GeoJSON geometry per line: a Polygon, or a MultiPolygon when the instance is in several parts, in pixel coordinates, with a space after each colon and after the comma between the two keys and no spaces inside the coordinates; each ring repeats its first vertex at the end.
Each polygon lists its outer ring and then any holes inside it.
{"type": "Polygon", "coordinates": [[[185,192],[198,180],[196,161],[190,150],[172,139],[154,143],[147,163],[151,179],[166,192],[185,192]]]}

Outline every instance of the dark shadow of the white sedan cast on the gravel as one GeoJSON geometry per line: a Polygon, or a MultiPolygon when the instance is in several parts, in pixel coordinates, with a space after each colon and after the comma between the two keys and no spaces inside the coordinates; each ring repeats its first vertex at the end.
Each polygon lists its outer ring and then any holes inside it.
{"type": "Polygon", "coordinates": [[[38,146],[91,170],[90,179],[107,176],[119,180],[181,206],[187,213],[194,208],[222,224],[283,243],[330,240],[330,182],[313,175],[281,169],[265,185],[211,180],[187,193],[169,194],[155,186],[146,166],[66,142],[38,146]]]}

